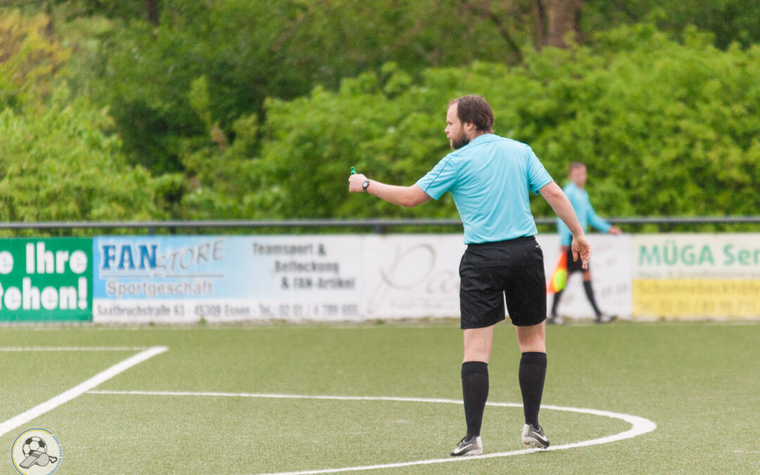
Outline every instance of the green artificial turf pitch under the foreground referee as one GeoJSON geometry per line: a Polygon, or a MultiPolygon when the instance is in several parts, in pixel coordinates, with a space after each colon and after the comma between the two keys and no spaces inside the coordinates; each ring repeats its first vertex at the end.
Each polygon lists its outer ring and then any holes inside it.
{"type": "MultiPolygon", "coordinates": [[[[460,404],[166,391],[461,400],[454,323],[240,327],[3,327],[0,347],[169,348],[0,436],[0,473],[25,429],[53,432],[57,473],[277,473],[447,458],[460,404]],[[5,454],[5,455],[2,455],[5,454]]],[[[641,416],[632,439],[360,473],[760,473],[758,322],[614,322],[547,328],[543,403],[641,416]]],[[[140,350],[0,352],[0,424],[140,350]]],[[[496,328],[489,401],[520,403],[511,325],[496,328]]],[[[543,409],[553,445],[628,430],[543,409]]],[[[521,450],[522,410],[486,407],[486,454],[521,450]]],[[[356,472],[352,472],[356,473],[356,472]]]]}

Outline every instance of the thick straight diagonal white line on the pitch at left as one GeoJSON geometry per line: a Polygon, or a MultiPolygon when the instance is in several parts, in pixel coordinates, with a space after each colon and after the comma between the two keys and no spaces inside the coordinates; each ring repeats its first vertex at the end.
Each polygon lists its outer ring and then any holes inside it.
{"type": "Polygon", "coordinates": [[[167,347],[148,348],[147,350],[141,351],[141,353],[138,353],[135,356],[130,356],[129,358],[124,359],[123,361],[119,363],[116,363],[115,365],[111,366],[109,369],[99,372],[97,375],[94,375],[92,378],[87,379],[87,381],[74,386],[74,388],[71,388],[68,391],[62,392],[61,394],[53,397],[49,401],[45,401],[42,404],[32,407],[30,410],[27,410],[17,416],[11,417],[11,419],[6,420],[4,423],[0,423],[0,435],[5,435],[9,431],[17,428],[18,426],[21,426],[22,424],[25,424],[29,422],[30,420],[33,420],[35,417],[41,416],[42,414],[48,412],[49,410],[53,410],[55,409],[55,407],[59,407],[61,404],[71,401],[72,399],[74,399],[74,397],[77,397],[87,391],[90,391],[90,389],[95,388],[97,385],[100,385],[101,383],[108,381],[110,378],[113,378],[114,376],[118,375],[120,372],[124,372],[127,369],[130,369],[132,366],[142,363],[146,359],[152,358],[153,356],[156,356],[159,353],[163,353],[166,350],[169,350],[169,348],[167,347]]]}

